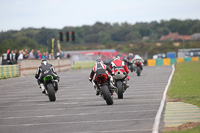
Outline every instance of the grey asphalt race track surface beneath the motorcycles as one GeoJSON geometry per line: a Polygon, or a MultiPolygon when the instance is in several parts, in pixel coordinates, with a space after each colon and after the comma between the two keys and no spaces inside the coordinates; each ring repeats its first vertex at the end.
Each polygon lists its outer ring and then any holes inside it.
{"type": "Polygon", "coordinates": [[[56,102],[41,93],[33,75],[0,80],[0,133],[151,133],[172,67],[130,73],[124,99],[115,94],[111,106],[95,95],[90,71],[58,73],[56,102]]]}

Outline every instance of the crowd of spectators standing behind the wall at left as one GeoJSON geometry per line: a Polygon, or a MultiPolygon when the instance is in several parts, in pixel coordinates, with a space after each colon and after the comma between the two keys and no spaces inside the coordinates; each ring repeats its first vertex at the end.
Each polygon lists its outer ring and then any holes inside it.
{"type": "Polygon", "coordinates": [[[35,52],[34,49],[32,49],[30,52],[25,50],[7,50],[7,58],[6,64],[16,64],[18,60],[23,59],[61,59],[61,58],[70,58],[70,54],[64,55],[62,51],[57,51],[57,53],[54,55],[54,53],[48,53],[48,52],[41,52],[40,50],[37,50],[35,52]]]}

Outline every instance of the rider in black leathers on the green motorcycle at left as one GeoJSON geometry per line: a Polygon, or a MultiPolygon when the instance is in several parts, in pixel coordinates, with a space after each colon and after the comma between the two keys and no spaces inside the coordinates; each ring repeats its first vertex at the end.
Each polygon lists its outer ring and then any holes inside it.
{"type": "Polygon", "coordinates": [[[37,69],[35,78],[37,79],[38,85],[40,85],[42,93],[44,93],[44,94],[45,94],[45,87],[44,87],[43,78],[47,75],[53,76],[53,79],[55,80],[55,90],[58,91],[58,82],[59,82],[60,78],[57,75],[53,65],[49,64],[46,59],[43,59],[41,61],[41,65],[37,69]]]}

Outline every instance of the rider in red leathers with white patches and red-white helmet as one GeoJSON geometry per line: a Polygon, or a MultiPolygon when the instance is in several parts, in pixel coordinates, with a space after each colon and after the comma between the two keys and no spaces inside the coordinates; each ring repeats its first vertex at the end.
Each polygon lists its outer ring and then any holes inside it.
{"type": "Polygon", "coordinates": [[[114,60],[111,62],[110,64],[110,68],[112,71],[114,71],[114,73],[117,71],[118,68],[120,68],[120,71],[123,72],[124,75],[126,75],[126,78],[124,80],[124,84],[125,86],[125,90],[129,87],[127,81],[129,80],[129,70],[127,65],[125,64],[124,61],[120,60],[120,56],[116,56],[113,58],[114,60]],[[117,69],[116,69],[117,68],[117,69]]]}

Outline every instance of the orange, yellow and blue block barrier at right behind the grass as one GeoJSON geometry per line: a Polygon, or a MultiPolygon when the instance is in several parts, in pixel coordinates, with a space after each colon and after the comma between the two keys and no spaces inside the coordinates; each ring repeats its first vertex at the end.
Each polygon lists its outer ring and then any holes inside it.
{"type": "Polygon", "coordinates": [[[199,57],[188,58],[164,58],[164,59],[148,59],[147,66],[166,66],[174,63],[188,62],[188,61],[200,61],[199,57]]]}

